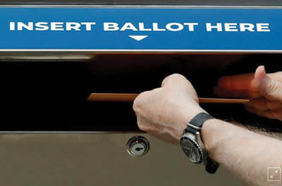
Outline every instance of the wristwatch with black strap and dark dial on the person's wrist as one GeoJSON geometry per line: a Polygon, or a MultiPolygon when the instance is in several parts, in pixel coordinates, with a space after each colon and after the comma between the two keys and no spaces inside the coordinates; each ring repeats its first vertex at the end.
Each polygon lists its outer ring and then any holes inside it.
{"type": "Polygon", "coordinates": [[[214,117],[208,113],[198,113],[192,118],[183,131],[183,135],[180,138],[180,146],[190,161],[204,164],[206,171],[214,174],[219,168],[219,163],[209,158],[201,137],[202,125],[209,119],[214,119],[214,117]]]}

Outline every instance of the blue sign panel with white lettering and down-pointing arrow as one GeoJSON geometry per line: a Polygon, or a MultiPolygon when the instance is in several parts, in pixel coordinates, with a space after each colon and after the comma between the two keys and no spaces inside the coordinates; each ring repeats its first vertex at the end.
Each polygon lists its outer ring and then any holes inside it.
{"type": "Polygon", "coordinates": [[[0,8],[0,14],[0,49],[282,50],[282,9],[279,8],[0,8]],[[76,30],[66,26],[76,23],[80,24],[76,30]],[[83,23],[93,23],[88,25],[91,30],[88,27],[87,31],[83,23]],[[119,30],[106,31],[106,23],[117,23],[115,28],[119,30]],[[192,31],[184,23],[197,25],[192,31]],[[207,31],[209,23],[221,23],[222,31],[216,28],[207,31]],[[240,23],[254,25],[253,31],[244,31],[240,23]],[[142,25],[151,30],[140,31],[142,25]]]}

